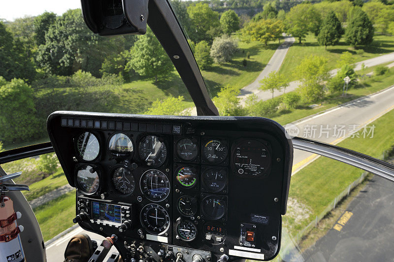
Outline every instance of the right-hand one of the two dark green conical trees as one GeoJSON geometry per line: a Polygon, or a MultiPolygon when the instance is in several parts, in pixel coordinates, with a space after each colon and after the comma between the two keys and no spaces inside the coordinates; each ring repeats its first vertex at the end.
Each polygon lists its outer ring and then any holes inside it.
{"type": "Polygon", "coordinates": [[[367,45],[373,41],[374,28],[368,16],[361,10],[355,8],[345,30],[346,41],[356,47],[367,45]]]}

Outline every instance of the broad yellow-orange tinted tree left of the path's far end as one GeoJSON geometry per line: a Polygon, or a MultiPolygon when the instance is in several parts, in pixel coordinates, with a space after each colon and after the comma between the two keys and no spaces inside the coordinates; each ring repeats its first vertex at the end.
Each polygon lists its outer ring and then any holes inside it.
{"type": "Polygon", "coordinates": [[[259,20],[250,22],[242,29],[242,37],[247,41],[260,41],[265,45],[268,41],[280,39],[284,26],[280,20],[259,20]]]}

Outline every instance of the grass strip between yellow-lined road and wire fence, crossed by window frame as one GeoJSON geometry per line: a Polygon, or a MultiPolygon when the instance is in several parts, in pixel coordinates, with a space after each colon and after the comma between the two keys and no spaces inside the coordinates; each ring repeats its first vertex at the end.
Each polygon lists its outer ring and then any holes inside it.
{"type": "MultiPolygon", "coordinates": [[[[370,125],[375,125],[373,138],[347,138],[338,146],[349,148],[375,158],[394,145],[394,110],[380,117],[370,125]]],[[[289,197],[305,205],[310,211],[307,219],[294,223],[294,218],[284,216],[284,223],[292,235],[307,226],[334,200],[347,186],[360,177],[363,171],[356,167],[321,157],[301,169],[292,177],[289,197]],[[327,171],[329,170],[329,171],[327,171]]]]}

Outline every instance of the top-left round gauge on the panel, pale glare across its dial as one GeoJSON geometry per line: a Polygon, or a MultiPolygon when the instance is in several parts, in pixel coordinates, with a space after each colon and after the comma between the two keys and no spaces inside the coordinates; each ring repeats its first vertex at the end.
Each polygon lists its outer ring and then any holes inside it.
{"type": "Polygon", "coordinates": [[[80,157],[85,161],[93,161],[99,156],[99,139],[91,132],[81,133],[77,138],[76,147],[80,157]]]}

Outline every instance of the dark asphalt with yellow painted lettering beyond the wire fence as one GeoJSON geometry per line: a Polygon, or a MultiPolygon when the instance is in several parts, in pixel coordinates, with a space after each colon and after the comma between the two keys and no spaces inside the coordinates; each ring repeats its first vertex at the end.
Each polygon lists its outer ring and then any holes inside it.
{"type": "Polygon", "coordinates": [[[307,249],[305,261],[394,261],[394,184],[373,177],[345,211],[353,214],[347,223],[307,249]]]}

